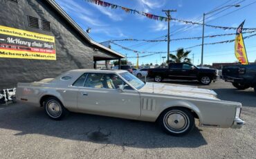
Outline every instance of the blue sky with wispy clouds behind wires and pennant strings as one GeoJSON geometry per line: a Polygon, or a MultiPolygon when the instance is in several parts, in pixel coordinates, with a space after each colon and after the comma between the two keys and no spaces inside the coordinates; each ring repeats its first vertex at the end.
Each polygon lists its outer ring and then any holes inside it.
{"type": "MultiPolygon", "coordinates": [[[[84,0],[55,0],[67,13],[70,15],[84,30],[91,28],[89,36],[95,41],[102,42],[110,39],[165,39],[167,35],[167,22],[155,21],[147,19],[141,15],[127,14],[123,10],[114,10],[111,8],[104,8],[92,3],[88,3],[84,0]]],[[[185,19],[188,21],[201,21],[203,12],[209,12],[214,8],[221,5],[234,5],[238,2],[241,5],[241,9],[231,7],[226,8],[223,12],[205,17],[205,23],[216,26],[230,26],[237,27],[244,19],[246,23],[244,28],[256,28],[256,0],[105,0],[109,3],[114,3],[126,8],[132,8],[143,12],[149,12],[154,15],[165,16],[162,12],[164,9],[176,9],[177,12],[172,12],[172,17],[177,19],[185,19]],[[250,6],[242,8],[250,3],[250,6]],[[232,12],[235,11],[236,12],[232,12]],[[232,12],[226,15],[228,12],[232,12]],[[226,15],[226,16],[224,16],[226,15]]],[[[182,37],[200,37],[202,35],[202,26],[191,26],[188,24],[171,21],[171,39],[182,37]]],[[[217,28],[205,27],[206,35],[217,35],[235,33],[235,30],[221,30],[217,28]]],[[[253,33],[255,34],[255,32],[253,33]]],[[[249,34],[244,34],[244,37],[249,34]]],[[[256,36],[255,36],[256,37],[256,36]]],[[[256,59],[256,38],[251,37],[245,39],[245,45],[249,62],[254,62],[256,59]]],[[[215,38],[205,38],[205,43],[211,43],[216,41],[224,41],[229,39],[235,39],[235,35],[215,38]]],[[[140,51],[167,51],[167,42],[146,43],[143,41],[118,41],[116,42],[127,48],[140,51]]],[[[176,50],[177,48],[188,48],[201,44],[199,40],[182,40],[171,41],[170,50],[176,50]]],[[[212,62],[235,62],[234,43],[230,44],[217,44],[207,45],[204,48],[204,64],[212,64],[212,62]]],[[[134,57],[136,53],[123,50],[122,48],[111,45],[113,50],[127,54],[127,57],[134,57]]],[[[201,62],[201,46],[191,48],[190,58],[194,54],[194,64],[200,64],[201,62]]],[[[146,55],[146,54],[140,54],[146,55]]],[[[139,64],[160,64],[162,61],[161,56],[167,56],[166,54],[156,54],[149,57],[142,57],[139,59],[139,64]]],[[[136,58],[128,58],[129,61],[136,64],[136,58]]]]}

